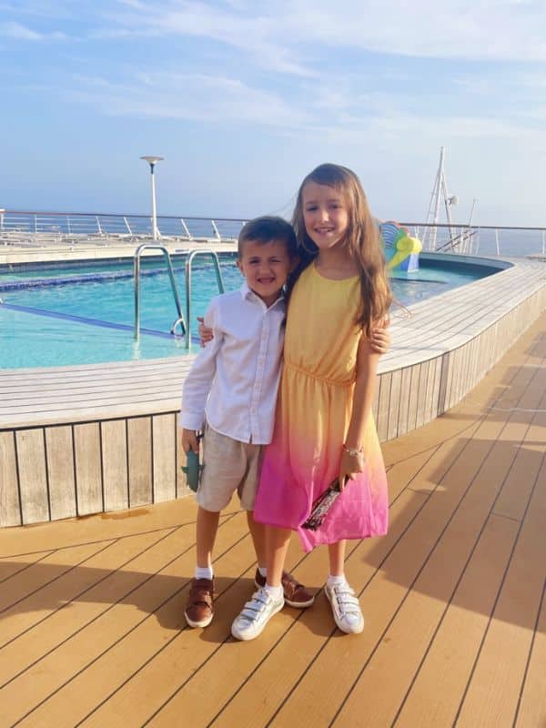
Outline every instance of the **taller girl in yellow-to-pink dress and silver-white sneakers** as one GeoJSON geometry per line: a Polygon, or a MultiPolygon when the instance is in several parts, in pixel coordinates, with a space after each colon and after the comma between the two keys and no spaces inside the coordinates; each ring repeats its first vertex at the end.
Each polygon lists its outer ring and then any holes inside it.
{"type": "Polygon", "coordinates": [[[378,228],[359,178],[331,164],[303,180],[292,222],[301,264],[290,287],[275,431],[254,511],[268,526],[268,577],[232,624],[239,640],[257,637],[282,609],[291,531],[306,551],[328,544],[325,591],[334,620],[342,632],[361,632],[359,600],[344,576],[346,539],[382,535],[388,525],[371,415],[379,354],[370,336],[392,300],[378,228]],[[317,531],[302,528],[334,480],[341,494],[325,521],[317,531]]]}

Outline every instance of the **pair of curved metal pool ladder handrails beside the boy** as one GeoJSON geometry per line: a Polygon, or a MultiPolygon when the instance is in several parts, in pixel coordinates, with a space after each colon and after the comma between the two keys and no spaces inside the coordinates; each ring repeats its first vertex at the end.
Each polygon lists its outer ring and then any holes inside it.
{"type": "Polygon", "coordinates": [[[210,256],[217,278],[218,291],[224,293],[224,281],[222,280],[222,273],[220,271],[220,262],[217,257],[217,253],[214,250],[190,250],[187,253],[186,258],[186,318],[182,312],[180,305],[180,297],[178,296],[177,281],[175,279],[175,271],[171,262],[170,254],[164,245],[154,245],[150,243],[144,243],[144,245],[138,246],[135,251],[134,268],[135,268],[135,327],[134,327],[134,339],[137,341],[140,338],[140,258],[144,250],[160,250],[165,258],[167,264],[167,273],[170,280],[171,290],[173,292],[173,298],[175,299],[175,305],[177,307],[177,319],[173,322],[170,328],[170,333],[175,334],[177,327],[180,326],[182,336],[186,339],[186,349],[189,349],[191,345],[191,327],[188,328],[188,324],[191,321],[191,264],[194,258],[197,256],[210,256]]]}

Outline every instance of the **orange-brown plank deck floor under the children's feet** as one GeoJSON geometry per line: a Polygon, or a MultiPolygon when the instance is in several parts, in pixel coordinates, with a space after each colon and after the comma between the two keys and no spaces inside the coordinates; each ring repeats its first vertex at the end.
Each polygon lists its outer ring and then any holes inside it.
{"type": "MultiPolygon", "coordinates": [[[[353,542],[366,618],[323,594],[254,642],[245,518],[222,516],[217,615],[186,627],[192,499],[0,532],[0,725],[546,726],[546,315],[458,406],[384,445],[388,536],[353,542]]],[[[319,589],[326,553],[289,568],[319,589]]]]}

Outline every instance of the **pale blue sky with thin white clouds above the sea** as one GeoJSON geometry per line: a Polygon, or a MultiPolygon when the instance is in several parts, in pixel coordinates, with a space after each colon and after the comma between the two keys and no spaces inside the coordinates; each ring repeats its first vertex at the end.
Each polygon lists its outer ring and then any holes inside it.
{"type": "Polygon", "coordinates": [[[322,162],[546,227],[546,0],[0,0],[0,207],[289,216],[322,162]]]}

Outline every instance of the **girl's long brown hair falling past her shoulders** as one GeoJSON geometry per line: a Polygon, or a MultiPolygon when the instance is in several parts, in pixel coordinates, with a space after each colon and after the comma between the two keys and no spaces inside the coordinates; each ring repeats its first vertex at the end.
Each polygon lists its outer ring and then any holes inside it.
{"type": "Polygon", "coordinates": [[[320,165],[305,177],[299,187],[292,227],[298,239],[301,263],[290,280],[290,285],[294,285],[299,273],[307,268],[319,252],[319,248],[307,234],[303,218],[303,188],[308,182],[333,187],[345,199],[349,228],[344,245],[349,248],[359,268],[360,277],[361,306],[357,322],[369,337],[373,325],[389,316],[392,294],[379,238],[379,227],[369,211],[368,199],[359,177],[347,167],[320,165]]]}

